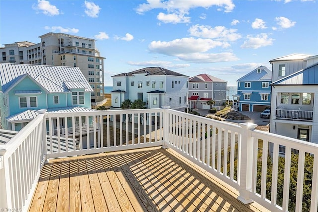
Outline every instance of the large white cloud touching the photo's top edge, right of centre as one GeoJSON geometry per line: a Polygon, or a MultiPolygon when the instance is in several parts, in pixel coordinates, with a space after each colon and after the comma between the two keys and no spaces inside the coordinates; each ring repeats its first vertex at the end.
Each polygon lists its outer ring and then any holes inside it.
{"type": "MultiPolygon", "coordinates": [[[[147,0],[147,3],[139,4],[135,9],[137,14],[144,14],[152,9],[163,9],[167,13],[160,12],[158,20],[163,23],[189,23],[189,10],[197,7],[208,9],[211,6],[223,8],[224,12],[231,12],[235,5],[232,0],[147,0]]],[[[200,17],[201,18],[201,17],[200,17]]]]}

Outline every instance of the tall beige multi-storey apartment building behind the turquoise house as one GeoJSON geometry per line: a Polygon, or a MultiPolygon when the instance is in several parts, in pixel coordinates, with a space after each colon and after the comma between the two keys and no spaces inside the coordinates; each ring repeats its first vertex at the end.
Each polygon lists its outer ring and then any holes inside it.
{"type": "Polygon", "coordinates": [[[104,100],[104,57],[95,40],[64,33],[39,36],[40,43],[28,41],[4,44],[0,48],[1,63],[79,67],[90,86],[92,104],[104,100]]]}

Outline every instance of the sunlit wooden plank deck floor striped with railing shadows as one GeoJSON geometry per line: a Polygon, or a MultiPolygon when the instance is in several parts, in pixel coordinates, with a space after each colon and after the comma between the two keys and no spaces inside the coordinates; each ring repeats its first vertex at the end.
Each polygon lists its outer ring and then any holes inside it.
{"type": "Polygon", "coordinates": [[[173,150],[148,148],[50,161],[29,211],[264,211],[236,197],[173,150]]]}

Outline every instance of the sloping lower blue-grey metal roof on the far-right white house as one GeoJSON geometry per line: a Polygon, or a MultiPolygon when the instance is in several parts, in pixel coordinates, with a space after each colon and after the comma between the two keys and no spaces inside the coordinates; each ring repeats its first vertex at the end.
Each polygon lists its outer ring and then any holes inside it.
{"type": "Polygon", "coordinates": [[[318,85],[318,63],[277,80],[271,85],[318,85]]]}

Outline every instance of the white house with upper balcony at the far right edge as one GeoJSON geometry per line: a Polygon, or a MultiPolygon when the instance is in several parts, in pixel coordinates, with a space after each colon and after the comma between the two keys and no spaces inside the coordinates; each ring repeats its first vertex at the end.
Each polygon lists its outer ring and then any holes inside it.
{"type": "Polygon", "coordinates": [[[270,132],[318,143],[318,55],[293,54],[270,63],[270,132]]]}

